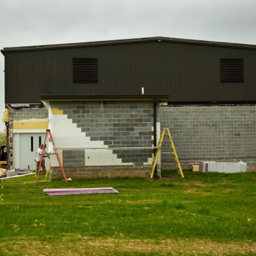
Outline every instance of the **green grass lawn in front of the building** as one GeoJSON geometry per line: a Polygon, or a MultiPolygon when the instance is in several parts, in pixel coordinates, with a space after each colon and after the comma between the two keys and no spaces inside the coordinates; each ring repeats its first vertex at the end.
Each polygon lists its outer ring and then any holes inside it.
{"type": "Polygon", "coordinates": [[[0,184],[0,255],[256,255],[256,174],[0,184]],[[48,196],[51,188],[119,194],[48,196]]]}

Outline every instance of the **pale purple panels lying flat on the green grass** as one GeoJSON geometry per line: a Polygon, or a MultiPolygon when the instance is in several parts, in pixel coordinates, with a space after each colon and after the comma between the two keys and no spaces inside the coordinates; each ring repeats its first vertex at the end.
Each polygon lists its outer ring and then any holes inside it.
{"type": "Polygon", "coordinates": [[[119,192],[113,187],[95,187],[93,189],[44,189],[48,195],[110,194],[119,192]]]}

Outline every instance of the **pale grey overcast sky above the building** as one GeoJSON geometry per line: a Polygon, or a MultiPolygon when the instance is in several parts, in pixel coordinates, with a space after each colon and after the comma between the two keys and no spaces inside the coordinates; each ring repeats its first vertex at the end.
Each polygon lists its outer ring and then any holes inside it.
{"type": "MultiPolygon", "coordinates": [[[[255,0],[0,0],[0,49],[151,36],[256,44],[255,10],[255,0]]],[[[1,119],[3,70],[1,54],[1,119]]]]}

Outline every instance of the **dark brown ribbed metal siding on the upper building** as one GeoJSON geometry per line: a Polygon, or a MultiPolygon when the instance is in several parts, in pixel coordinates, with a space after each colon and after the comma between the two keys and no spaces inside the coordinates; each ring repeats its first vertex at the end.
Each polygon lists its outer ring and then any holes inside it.
{"type": "Polygon", "coordinates": [[[172,102],[255,101],[256,50],[149,42],[5,53],[5,102],[41,94],[170,94],[172,102]],[[98,58],[98,83],[73,83],[73,58],[98,58]],[[220,83],[220,59],[243,59],[244,82],[220,83]]]}

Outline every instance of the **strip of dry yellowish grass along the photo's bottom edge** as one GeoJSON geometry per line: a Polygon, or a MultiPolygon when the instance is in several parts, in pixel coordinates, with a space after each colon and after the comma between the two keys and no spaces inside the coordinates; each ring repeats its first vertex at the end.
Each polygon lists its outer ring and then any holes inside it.
{"type": "MultiPolygon", "coordinates": [[[[120,235],[121,236],[121,235],[120,235]]],[[[63,241],[17,241],[9,243],[9,248],[3,246],[5,255],[110,255],[111,252],[144,252],[161,253],[165,255],[234,255],[256,252],[256,243],[218,243],[210,240],[125,240],[94,239],[78,237],[73,241],[65,238],[63,241]],[[11,248],[10,248],[11,247],[11,248]],[[11,251],[10,251],[11,249],[11,251]]]]}

